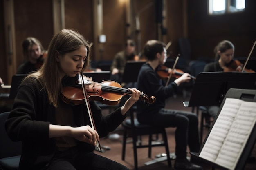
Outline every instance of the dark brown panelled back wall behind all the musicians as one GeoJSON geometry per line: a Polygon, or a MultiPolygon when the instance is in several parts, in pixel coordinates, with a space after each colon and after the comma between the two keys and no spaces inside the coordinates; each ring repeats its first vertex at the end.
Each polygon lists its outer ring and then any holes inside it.
{"type": "MultiPolygon", "coordinates": [[[[142,50],[147,40],[157,39],[157,10],[159,0],[132,0],[134,17],[149,4],[147,9],[139,14],[140,30],[132,29],[130,35],[135,39],[142,50]],[[138,35],[141,35],[141,39],[138,35]]],[[[93,4],[92,0],[65,0],[65,24],[66,28],[78,30],[89,40],[94,41],[93,29],[93,4]]],[[[178,38],[184,36],[184,29],[188,30],[188,38],[191,44],[193,59],[198,57],[213,58],[213,48],[223,40],[231,40],[236,46],[235,56],[246,57],[256,38],[256,1],[247,0],[246,10],[242,13],[210,16],[207,14],[207,0],[167,0],[167,26],[164,42],[172,41],[168,49],[171,58],[175,58],[180,52],[178,38]],[[184,25],[183,3],[187,2],[187,28],[184,25]]],[[[4,30],[3,1],[0,2],[0,77],[7,79],[6,75],[6,44],[4,30]]],[[[126,35],[126,8],[120,0],[103,0],[103,34],[106,35],[106,43],[92,46],[92,59],[112,60],[115,53],[124,49],[126,35]],[[95,51],[102,51],[95,57],[95,51]]],[[[45,48],[53,36],[52,0],[14,0],[15,38],[17,50],[17,66],[22,57],[22,41],[28,36],[38,38],[45,48]]],[[[186,21],[185,21],[186,22],[186,21]]],[[[252,57],[256,56],[256,50],[252,57]]],[[[8,77],[10,78],[10,77],[8,77]]]]}

